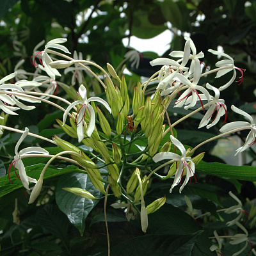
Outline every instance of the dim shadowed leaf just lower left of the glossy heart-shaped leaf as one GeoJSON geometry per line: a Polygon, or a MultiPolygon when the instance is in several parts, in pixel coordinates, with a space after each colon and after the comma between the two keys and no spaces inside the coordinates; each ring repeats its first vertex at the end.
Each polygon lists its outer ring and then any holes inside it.
{"type": "Polygon", "coordinates": [[[67,236],[68,220],[56,205],[45,205],[36,212],[35,218],[46,232],[51,232],[52,235],[62,240],[67,236]]]}

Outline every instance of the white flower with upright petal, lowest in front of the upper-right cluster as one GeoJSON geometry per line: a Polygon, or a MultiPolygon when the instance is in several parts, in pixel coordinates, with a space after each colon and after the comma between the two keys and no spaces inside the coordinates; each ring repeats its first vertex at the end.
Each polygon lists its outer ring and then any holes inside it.
{"type": "Polygon", "coordinates": [[[200,79],[200,75],[201,75],[201,65],[200,62],[198,60],[198,58],[196,58],[195,60],[195,70],[194,70],[194,74],[193,74],[193,82],[191,83],[191,81],[189,81],[189,79],[182,75],[182,74],[177,74],[176,77],[179,79],[180,83],[187,85],[189,88],[185,90],[185,92],[182,93],[182,95],[180,95],[179,99],[177,99],[177,101],[175,102],[175,107],[182,107],[184,104],[188,104],[188,102],[186,102],[186,100],[188,99],[189,95],[191,94],[191,100],[189,100],[189,105],[186,106],[184,109],[189,109],[193,106],[195,106],[196,104],[196,100],[200,100],[202,106],[202,99],[200,98],[200,95],[198,94],[197,90],[204,93],[206,99],[208,100],[208,102],[210,102],[211,97],[209,92],[200,85],[197,85],[199,79],[200,79]]]}

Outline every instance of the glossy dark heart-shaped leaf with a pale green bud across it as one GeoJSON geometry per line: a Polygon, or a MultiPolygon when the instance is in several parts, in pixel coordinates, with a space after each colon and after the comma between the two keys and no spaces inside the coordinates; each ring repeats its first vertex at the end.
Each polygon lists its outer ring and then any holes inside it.
{"type": "Polygon", "coordinates": [[[68,173],[58,181],[56,190],[58,207],[68,216],[68,220],[83,236],[85,219],[99,201],[76,196],[62,188],[82,188],[89,191],[96,198],[99,198],[101,193],[95,189],[88,175],[83,173],[68,173]]]}

